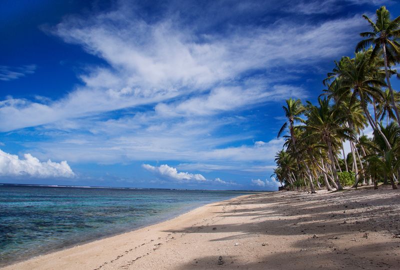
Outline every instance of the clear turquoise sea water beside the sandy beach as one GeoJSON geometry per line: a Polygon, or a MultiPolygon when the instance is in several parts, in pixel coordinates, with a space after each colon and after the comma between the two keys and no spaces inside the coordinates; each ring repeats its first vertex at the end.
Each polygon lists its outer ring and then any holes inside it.
{"type": "Polygon", "coordinates": [[[0,185],[0,266],[242,192],[0,185]]]}

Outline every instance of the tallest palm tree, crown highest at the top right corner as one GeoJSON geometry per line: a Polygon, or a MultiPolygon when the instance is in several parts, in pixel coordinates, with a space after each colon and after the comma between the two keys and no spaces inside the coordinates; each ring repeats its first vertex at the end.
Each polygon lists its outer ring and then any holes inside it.
{"type": "Polygon", "coordinates": [[[370,57],[374,58],[378,55],[379,50],[382,49],[384,71],[387,87],[390,92],[391,104],[396,114],[396,120],[400,123],[400,114],[395,104],[388,72],[388,62],[399,58],[400,43],[398,42],[398,38],[400,37],[400,16],[390,20],[389,10],[387,10],[385,6],[381,6],[379,9],[376,9],[376,22],[373,22],[366,15],[362,15],[362,17],[368,21],[371,31],[360,33],[360,35],[366,37],[366,39],[358,42],[356,50],[360,50],[372,44],[374,47],[370,57]]]}

